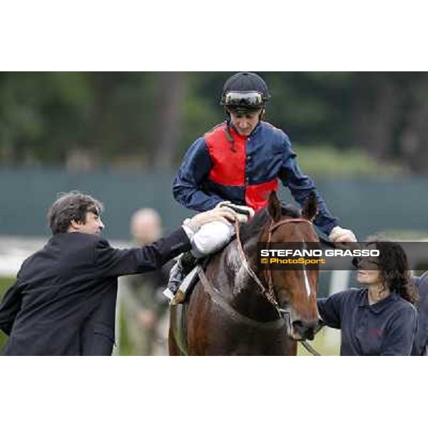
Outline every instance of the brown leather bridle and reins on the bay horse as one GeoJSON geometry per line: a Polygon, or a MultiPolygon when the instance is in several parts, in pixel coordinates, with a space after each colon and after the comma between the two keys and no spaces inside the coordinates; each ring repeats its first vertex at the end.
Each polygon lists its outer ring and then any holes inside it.
{"type": "MultiPolygon", "coordinates": [[[[308,220],[307,218],[298,217],[298,218],[285,218],[284,220],[280,220],[277,223],[272,219],[272,222],[270,223],[269,227],[269,233],[267,235],[267,248],[269,248],[270,243],[272,242],[272,233],[277,230],[282,225],[287,225],[290,223],[307,223],[312,227],[312,221],[308,220]]],[[[280,307],[279,303],[276,300],[275,297],[275,291],[273,287],[273,280],[272,280],[272,270],[270,268],[267,268],[267,289],[263,286],[262,282],[260,281],[259,277],[256,275],[253,269],[251,269],[250,264],[248,263],[247,256],[244,253],[243,250],[243,244],[240,240],[240,233],[239,233],[239,222],[235,220],[235,233],[236,233],[236,240],[238,243],[238,252],[240,255],[240,260],[243,263],[243,267],[248,272],[248,275],[253,278],[255,283],[260,288],[260,291],[263,293],[263,295],[266,297],[267,301],[270,302],[273,307],[275,307],[275,310],[277,311],[278,315],[284,320],[286,320],[288,327],[291,329],[291,312],[290,310],[283,309],[280,307]]],[[[308,352],[310,352],[312,355],[320,356],[320,354],[314,350],[314,348],[307,343],[305,339],[300,340],[300,343],[306,348],[308,352]]]]}

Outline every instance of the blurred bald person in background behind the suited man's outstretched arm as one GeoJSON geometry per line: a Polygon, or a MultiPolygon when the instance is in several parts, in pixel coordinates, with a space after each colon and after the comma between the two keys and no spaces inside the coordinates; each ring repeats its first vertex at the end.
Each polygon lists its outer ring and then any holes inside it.
{"type": "MultiPolygon", "coordinates": [[[[148,245],[162,236],[161,216],[153,208],[133,213],[130,223],[133,245],[148,245]]],[[[170,263],[145,274],[123,277],[121,297],[126,332],[133,355],[166,355],[168,300],[162,294],[168,282],[170,263]]]]}

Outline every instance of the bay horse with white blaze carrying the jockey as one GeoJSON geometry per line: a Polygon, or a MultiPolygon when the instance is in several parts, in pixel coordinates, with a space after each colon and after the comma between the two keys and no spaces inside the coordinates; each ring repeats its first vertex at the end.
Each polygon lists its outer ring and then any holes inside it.
{"type": "Polygon", "coordinates": [[[188,302],[170,307],[169,354],[296,355],[298,340],[313,339],[320,326],[319,271],[304,265],[300,270],[258,270],[257,244],[317,242],[315,215],[315,193],[301,212],[282,206],[270,193],[267,208],[240,225],[240,239],[215,254],[205,274],[199,273],[188,302]],[[182,340],[178,322],[184,325],[182,340]]]}

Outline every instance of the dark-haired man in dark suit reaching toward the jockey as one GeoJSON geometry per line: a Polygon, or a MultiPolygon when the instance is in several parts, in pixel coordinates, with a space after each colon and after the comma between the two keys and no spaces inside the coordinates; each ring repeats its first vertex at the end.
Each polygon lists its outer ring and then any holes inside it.
{"type": "Polygon", "coordinates": [[[227,208],[195,215],[152,245],[119,250],[101,238],[103,205],[71,192],[51,206],[52,238],[24,261],[0,305],[4,355],[111,355],[118,277],[155,270],[192,248],[210,221],[233,221],[227,208]]]}

